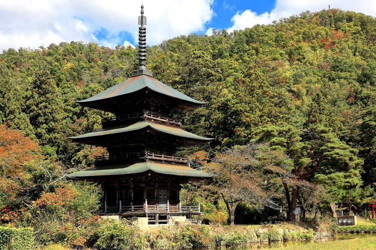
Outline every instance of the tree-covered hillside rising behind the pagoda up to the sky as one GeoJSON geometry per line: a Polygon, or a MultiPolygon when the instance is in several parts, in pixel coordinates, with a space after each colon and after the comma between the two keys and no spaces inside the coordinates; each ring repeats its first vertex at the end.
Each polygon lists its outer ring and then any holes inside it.
{"type": "MultiPolygon", "coordinates": [[[[31,158],[59,165],[56,178],[93,164],[103,149],[67,137],[99,128],[101,117],[109,114],[82,108],[75,100],[129,77],[136,56],[131,47],[75,41],[0,54],[0,121],[8,127],[1,132],[18,129],[40,145],[30,152],[33,157],[15,163],[20,165],[16,172],[9,172],[10,161],[0,159],[0,206],[27,207],[9,200],[7,193],[16,192],[9,186],[18,186],[22,191],[12,195],[22,199],[28,185],[54,181],[36,180],[30,167],[22,170],[25,162],[33,164],[31,158]],[[28,173],[17,178],[22,171],[28,173]]],[[[155,78],[207,102],[182,115],[184,129],[215,140],[185,152],[203,149],[213,156],[235,145],[267,143],[285,154],[295,181],[327,190],[330,197],[321,200],[361,205],[374,195],[375,18],[338,9],[303,12],[232,33],[214,30],[211,36],[166,40],[148,47],[147,59],[155,78]]],[[[3,135],[2,154],[8,150],[3,135]]],[[[305,194],[294,183],[281,181],[280,196],[290,196],[288,206],[294,195],[304,203],[305,194]]],[[[33,189],[24,203],[55,190],[49,188],[33,189]]]]}

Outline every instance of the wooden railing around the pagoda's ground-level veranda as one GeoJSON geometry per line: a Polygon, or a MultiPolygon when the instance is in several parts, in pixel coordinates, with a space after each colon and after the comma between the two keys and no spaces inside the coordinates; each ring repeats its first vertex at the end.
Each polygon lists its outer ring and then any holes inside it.
{"type": "Polygon", "coordinates": [[[181,201],[177,204],[170,204],[167,200],[166,204],[147,204],[147,199],[143,205],[130,205],[123,206],[121,201],[119,205],[109,206],[107,202],[104,202],[104,206],[101,207],[102,213],[201,213],[200,202],[197,206],[182,206],[181,201]]]}

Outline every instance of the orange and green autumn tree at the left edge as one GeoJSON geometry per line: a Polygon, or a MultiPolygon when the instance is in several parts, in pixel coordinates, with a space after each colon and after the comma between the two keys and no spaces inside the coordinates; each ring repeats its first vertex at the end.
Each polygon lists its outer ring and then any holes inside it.
{"type": "Polygon", "coordinates": [[[63,176],[60,165],[46,160],[36,141],[0,126],[0,221],[17,221],[43,192],[54,191],[63,176]]]}

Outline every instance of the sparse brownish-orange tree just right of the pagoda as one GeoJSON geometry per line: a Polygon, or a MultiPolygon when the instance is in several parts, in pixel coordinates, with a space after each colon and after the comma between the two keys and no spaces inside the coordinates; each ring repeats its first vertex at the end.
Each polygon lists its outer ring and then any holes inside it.
{"type": "Polygon", "coordinates": [[[242,201],[259,210],[265,206],[280,208],[275,199],[278,196],[275,187],[279,182],[275,173],[284,170],[275,164],[277,157],[274,155],[266,144],[247,144],[217,154],[214,162],[208,164],[214,175],[213,184],[226,203],[231,225],[234,224],[235,209],[242,201]]]}

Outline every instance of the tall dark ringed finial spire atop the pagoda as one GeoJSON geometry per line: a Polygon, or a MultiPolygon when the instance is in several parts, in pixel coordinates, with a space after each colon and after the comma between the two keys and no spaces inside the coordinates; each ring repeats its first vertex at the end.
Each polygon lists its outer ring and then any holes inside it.
{"type": "Polygon", "coordinates": [[[146,16],[143,15],[143,4],[141,3],[141,15],[138,16],[138,68],[132,75],[148,74],[152,76],[146,68],[146,16]]]}

